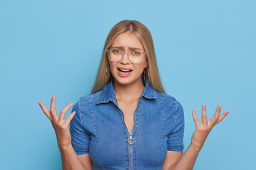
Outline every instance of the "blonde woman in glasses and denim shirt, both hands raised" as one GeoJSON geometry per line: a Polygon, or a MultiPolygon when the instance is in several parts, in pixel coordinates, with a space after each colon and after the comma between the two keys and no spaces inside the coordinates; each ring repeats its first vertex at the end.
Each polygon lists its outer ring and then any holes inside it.
{"type": "Polygon", "coordinates": [[[165,94],[151,33],[138,21],[112,28],[91,94],[66,120],[73,103],[59,116],[55,96],[50,111],[38,103],[55,129],[63,169],[193,169],[208,133],[229,112],[220,115],[218,106],[207,120],[204,103],[200,123],[193,110],[196,130],[183,154],[183,108],[165,94]]]}

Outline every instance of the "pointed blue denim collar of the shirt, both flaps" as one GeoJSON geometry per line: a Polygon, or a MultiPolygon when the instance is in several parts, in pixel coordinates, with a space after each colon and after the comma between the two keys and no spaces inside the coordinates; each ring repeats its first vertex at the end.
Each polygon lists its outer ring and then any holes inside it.
{"type": "MultiPolygon", "coordinates": [[[[97,100],[97,104],[99,103],[107,103],[109,101],[115,100],[115,94],[113,89],[113,79],[110,79],[110,81],[105,84],[105,86],[102,88],[102,94],[97,100]]],[[[149,84],[149,81],[144,77],[142,74],[142,83],[145,85],[144,91],[142,92],[141,96],[144,96],[145,98],[157,98],[156,90],[149,84]],[[145,81],[144,81],[145,79],[145,81]]],[[[139,97],[141,97],[139,96],[139,97]]]]}

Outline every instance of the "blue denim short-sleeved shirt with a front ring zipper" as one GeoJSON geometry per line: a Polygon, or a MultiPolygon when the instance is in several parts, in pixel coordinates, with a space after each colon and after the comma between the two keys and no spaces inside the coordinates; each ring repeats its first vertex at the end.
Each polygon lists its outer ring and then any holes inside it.
{"type": "MultiPolygon", "coordinates": [[[[145,78],[145,80],[144,80],[145,78]]],[[[73,106],[71,144],[76,154],[90,153],[92,169],[162,169],[167,150],[183,152],[184,114],[176,98],[145,85],[129,133],[118,107],[113,79],[73,106]]]]}

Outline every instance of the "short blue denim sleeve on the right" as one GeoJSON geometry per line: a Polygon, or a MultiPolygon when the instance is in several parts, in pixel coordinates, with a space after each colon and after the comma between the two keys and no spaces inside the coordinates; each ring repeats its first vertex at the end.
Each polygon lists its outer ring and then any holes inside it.
{"type": "Polygon", "coordinates": [[[174,130],[168,136],[167,150],[183,152],[183,135],[184,135],[184,112],[181,103],[174,102],[174,130]]]}

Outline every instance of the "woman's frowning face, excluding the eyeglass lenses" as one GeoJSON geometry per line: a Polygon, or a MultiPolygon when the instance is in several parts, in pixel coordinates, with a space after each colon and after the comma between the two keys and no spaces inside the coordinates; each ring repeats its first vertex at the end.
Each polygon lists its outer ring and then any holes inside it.
{"type": "MultiPolygon", "coordinates": [[[[137,35],[130,32],[125,32],[117,35],[114,38],[111,48],[118,47],[124,53],[132,48],[137,48],[141,52],[145,52],[142,42],[139,40],[137,35]]],[[[119,62],[112,62],[108,60],[110,64],[110,70],[114,77],[114,80],[119,84],[132,84],[137,81],[142,81],[142,72],[144,68],[148,66],[148,61],[146,55],[142,56],[142,62],[139,64],[134,64],[129,61],[128,55],[124,54],[119,62]],[[122,72],[120,69],[132,70],[132,72],[122,72]]]]}

